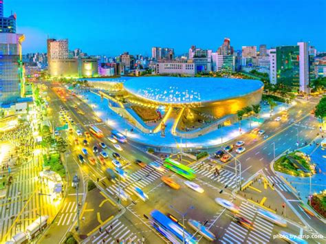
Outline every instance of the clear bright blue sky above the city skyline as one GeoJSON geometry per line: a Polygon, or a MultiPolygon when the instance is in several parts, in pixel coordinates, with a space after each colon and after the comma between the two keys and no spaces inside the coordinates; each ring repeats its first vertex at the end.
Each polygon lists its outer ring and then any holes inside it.
{"type": "Polygon", "coordinates": [[[25,34],[23,52],[45,52],[47,35],[69,38],[69,49],[116,56],[151,54],[151,47],[191,45],[215,51],[229,37],[242,45],[310,41],[326,51],[325,0],[5,0],[25,34]]]}

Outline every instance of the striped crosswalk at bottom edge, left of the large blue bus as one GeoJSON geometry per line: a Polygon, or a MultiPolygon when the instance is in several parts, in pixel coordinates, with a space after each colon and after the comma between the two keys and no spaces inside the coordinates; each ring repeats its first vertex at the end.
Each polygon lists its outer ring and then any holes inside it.
{"type": "Polygon", "coordinates": [[[125,241],[123,243],[141,243],[140,236],[131,232],[119,219],[113,221],[102,233],[94,236],[91,243],[116,243],[117,240],[125,241]]]}

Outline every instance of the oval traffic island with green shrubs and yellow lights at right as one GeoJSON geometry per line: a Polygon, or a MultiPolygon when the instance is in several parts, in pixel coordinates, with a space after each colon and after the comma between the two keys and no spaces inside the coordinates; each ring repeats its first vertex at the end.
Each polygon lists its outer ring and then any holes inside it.
{"type": "Polygon", "coordinates": [[[314,171],[314,164],[311,164],[309,156],[295,151],[283,155],[274,163],[274,170],[287,175],[298,177],[309,177],[314,171]]]}

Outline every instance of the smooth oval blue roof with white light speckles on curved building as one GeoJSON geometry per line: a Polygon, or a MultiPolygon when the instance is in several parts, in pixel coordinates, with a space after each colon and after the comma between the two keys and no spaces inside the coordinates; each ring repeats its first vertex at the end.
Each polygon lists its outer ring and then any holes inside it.
{"type": "Polygon", "coordinates": [[[135,96],[162,103],[213,102],[246,96],[263,87],[260,80],[235,78],[131,78],[124,89],[135,96]]]}

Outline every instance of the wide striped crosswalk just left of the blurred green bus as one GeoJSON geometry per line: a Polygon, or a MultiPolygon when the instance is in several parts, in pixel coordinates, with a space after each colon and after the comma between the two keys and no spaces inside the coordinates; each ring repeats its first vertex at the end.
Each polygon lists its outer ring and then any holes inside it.
{"type": "MultiPolygon", "coordinates": [[[[158,164],[162,165],[162,162],[156,160],[158,164]]],[[[162,170],[162,172],[155,170],[151,166],[146,166],[137,170],[136,172],[128,175],[127,179],[124,181],[120,181],[120,187],[127,192],[130,196],[134,194],[133,188],[138,186],[140,189],[148,186],[149,184],[153,183],[156,179],[162,177],[164,173],[166,173],[166,169],[162,170]]],[[[114,184],[107,188],[107,191],[111,193],[111,195],[119,195],[119,183],[118,181],[114,181],[114,184]]]]}

